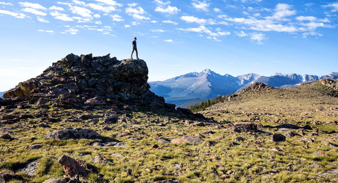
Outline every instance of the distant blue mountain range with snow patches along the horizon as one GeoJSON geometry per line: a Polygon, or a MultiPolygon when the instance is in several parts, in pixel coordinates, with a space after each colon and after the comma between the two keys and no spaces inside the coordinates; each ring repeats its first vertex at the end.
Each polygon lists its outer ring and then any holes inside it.
{"type": "Polygon", "coordinates": [[[150,91],[163,96],[167,103],[186,107],[188,104],[199,103],[201,100],[217,95],[235,93],[255,82],[275,88],[284,88],[324,78],[338,79],[338,72],[322,76],[275,73],[270,77],[249,73],[233,77],[229,74],[220,75],[210,69],[205,69],[202,72],[190,72],[165,81],[148,83],[151,86],[150,91]]]}

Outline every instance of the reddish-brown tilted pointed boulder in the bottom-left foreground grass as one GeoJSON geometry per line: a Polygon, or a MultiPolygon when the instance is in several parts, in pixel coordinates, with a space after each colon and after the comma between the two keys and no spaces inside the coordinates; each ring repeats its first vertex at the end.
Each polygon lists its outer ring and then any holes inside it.
{"type": "Polygon", "coordinates": [[[62,155],[57,159],[65,171],[70,177],[87,176],[88,171],[85,170],[77,161],[66,155],[62,155]]]}

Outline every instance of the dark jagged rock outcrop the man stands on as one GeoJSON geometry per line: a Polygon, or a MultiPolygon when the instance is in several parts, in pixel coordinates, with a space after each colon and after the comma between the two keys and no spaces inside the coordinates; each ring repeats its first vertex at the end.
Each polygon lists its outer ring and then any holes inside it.
{"type": "MultiPolygon", "coordinates": [[[[38,104],[37,108],[53,105],[60,108],[81,108],[91,105],[112,105],[117,102],[144,104],[174,109],[164,98],[149,90],[148,67],[143,60],[117,60],[110,54],[69,54],[53,63],[41,75],[19,83],[3,94],[0,106],[16,102],[18,108],[38,104]]],[[[12,103],[13,104],[13,103],[12,103]]]]}

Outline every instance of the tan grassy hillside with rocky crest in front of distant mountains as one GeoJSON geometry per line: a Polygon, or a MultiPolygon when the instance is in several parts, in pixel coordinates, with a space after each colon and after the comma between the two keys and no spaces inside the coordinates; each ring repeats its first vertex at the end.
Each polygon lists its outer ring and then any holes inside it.
{"type": "Polygon", "coordinates": [[[254,83],[201,114],[230,121],[336,123],[337,91],[337,82],[329,79],[281,89],[254,83]]]}

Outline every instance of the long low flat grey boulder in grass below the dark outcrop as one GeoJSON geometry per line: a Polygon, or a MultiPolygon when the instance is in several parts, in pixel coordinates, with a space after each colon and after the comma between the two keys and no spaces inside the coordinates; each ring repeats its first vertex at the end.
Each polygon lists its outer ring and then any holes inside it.
{"type": "Polygon", "coordinates": [[[100,139],[102,136],[94,130],[66,127],[61,130],[55,130],[45,135],[45,139],[100,139]]]}

